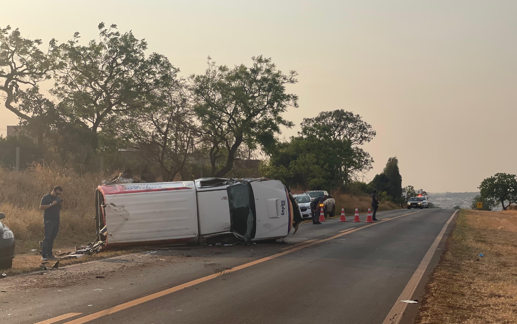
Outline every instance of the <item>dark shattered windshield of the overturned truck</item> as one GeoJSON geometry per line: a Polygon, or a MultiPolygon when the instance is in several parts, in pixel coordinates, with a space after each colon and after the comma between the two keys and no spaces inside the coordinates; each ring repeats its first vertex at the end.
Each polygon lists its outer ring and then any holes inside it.
{"type": "Polygon", "coordinates": [[[251,184],[242,183],[229,186],[228,203],[230,204],[231,231],[244,237],[249,242],[255,237],[255,201],[251,184]]]}

